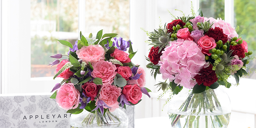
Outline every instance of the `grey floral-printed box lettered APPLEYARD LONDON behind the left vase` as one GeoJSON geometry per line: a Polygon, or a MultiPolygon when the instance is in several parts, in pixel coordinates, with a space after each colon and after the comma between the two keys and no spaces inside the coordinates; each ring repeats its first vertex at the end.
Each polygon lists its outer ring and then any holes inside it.
{"type": "MultiPolygon", "coordinates": [[[[0,128],[69,128],[71,114],[60,108],[50,94],[0,94],[0,128]]],[[[123,109],[134,128],[134,107],[123,109]]]]}

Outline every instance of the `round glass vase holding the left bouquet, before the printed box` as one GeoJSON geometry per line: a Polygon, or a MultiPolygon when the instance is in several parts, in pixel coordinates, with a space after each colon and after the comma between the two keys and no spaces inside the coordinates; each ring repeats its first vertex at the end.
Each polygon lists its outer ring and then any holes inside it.
{"type": "Polygon", "coordinates": [[[80,114],[72,114],[69,119],[72,128],[127,128],[128,116],[119,108],[105,115],[98,110],[95,113],[84,110],[80,114]]]}

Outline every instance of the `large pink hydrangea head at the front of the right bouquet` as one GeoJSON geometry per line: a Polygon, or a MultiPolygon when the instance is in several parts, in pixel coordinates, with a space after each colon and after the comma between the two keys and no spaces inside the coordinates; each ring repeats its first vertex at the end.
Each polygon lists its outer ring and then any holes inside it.
{"type": "Polygon", "coordinates": [[[194,76],[203,68],[205,56],[194,41],[177,39],[166,47],[160,57],[160,73],[164,80],[174,80],[180,86],[191,89],[196,82],[194,76]]]}

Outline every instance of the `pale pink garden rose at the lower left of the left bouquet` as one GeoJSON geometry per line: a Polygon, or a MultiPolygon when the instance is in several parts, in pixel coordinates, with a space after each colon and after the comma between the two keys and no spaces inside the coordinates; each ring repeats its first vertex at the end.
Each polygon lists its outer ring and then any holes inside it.
{"type": "Polygon", "coordinates": [[[57,91],[56,102],[65,110],[74,109],[79,105],[79,97],[80,92],[75,88],[74,84],[65,83],[57,91]]]}

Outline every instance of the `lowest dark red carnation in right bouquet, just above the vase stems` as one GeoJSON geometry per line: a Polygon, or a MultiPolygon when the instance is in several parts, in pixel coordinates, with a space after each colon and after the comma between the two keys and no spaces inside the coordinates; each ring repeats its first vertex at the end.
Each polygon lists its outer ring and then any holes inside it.
{"type": "Polygon", "coordinates": [[[204,84],[204,86],[211,86],[218,80],[215,71],[212,70],[211,64],[209,67],[201,69],[194,78],[198,85],[204,84]]]}

